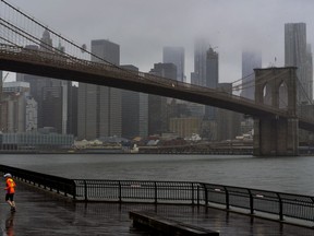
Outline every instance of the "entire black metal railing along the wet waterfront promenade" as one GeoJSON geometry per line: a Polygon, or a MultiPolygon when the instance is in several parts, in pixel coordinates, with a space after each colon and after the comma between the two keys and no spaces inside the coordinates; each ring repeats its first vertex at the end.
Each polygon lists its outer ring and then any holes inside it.
{"type": "Polygon", "coordinates": [[[314,197],[232,186],[189,181],[68,179],[0,165],[0,172],[14,178],[56,191],[75,201],[146,202],[193,205],[220,205],[245,213],[268,213],[314,221],[314,197]]]}

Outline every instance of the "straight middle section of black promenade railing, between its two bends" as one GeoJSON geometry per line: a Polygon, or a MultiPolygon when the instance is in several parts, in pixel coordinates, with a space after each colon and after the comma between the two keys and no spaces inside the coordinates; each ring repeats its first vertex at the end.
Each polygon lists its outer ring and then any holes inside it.
{"type": "Polygon", "coordinates": [[[198,182],[74,179],[76,200],[152,202],[152,203],[205,203],[198,182]]]}

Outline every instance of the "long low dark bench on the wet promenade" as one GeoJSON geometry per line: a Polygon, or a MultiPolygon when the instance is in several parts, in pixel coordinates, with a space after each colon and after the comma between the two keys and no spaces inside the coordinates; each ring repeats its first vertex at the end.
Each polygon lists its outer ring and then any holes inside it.
{"type": "Polygon", "coordinates": [[[134,227],[145,227],[155,232],[161,232],[161,235],[210,235],[219,236],[218,232],[184,224],[167,217],[162,217],[153,212],[129,212],[134,227]]]}

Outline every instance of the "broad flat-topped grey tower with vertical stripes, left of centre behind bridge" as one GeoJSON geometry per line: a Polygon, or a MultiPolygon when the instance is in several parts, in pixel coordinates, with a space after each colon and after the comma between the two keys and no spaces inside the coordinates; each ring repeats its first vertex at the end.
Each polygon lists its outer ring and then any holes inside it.
{"type": "MultiPolygon", "coordinates": [[[[92,61],[120,64],[120,46],[112,42],[92,40],[92,61]]],[[[77,138],[121,137],[121,99],[119,88],[80,83],[77,138]]]]}

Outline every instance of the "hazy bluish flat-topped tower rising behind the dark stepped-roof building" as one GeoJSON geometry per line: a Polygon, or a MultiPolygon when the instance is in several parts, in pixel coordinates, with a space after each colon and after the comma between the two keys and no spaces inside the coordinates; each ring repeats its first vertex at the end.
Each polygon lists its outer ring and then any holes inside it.
{"type": "Polygon", "coordinates": [[[173,63],[177,67],[177,81],[184,82],[184,48],[164,47],[162,62],[173,63]]]}

